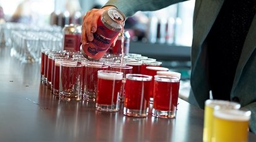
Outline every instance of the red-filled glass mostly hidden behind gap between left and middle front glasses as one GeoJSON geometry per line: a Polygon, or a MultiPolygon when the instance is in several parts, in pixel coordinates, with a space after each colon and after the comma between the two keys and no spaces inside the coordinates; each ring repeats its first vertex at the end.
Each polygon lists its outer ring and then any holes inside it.
{"type": "Polygon", "coordinates": [[[118,65],[112,65],[112,66],[109,66],[109,70],[111,71],[120,71],[123,73],[123,83],[122,83],[122,87],[121,87],[121,94],[119,96],[119,99],[121,100],[121,102],[123,102],[123,98],[125,97],[125,76],[126,74],[129,74],[132,72],[132,69],[133,67],[132,66],[126,66],[126,65],[123,65],[123,66],[118,66],[118,65]]]}

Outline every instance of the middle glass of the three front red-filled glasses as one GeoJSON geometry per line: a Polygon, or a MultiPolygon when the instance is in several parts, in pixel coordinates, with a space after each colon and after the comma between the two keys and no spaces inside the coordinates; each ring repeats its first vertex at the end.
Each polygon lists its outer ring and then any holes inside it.
{"type": "Polygon", "coordinates": [[[147,117],[149,114],[149,92],[152,76],[126,74],[125,103],[123,114],[133,117],[147,117]]]}

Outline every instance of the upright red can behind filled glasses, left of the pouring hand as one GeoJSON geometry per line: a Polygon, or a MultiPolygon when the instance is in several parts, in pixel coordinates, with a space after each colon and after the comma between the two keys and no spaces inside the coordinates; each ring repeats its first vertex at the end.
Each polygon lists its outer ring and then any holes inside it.
{"type": "Polygon", "coordinates": [[[65,25],[63,28],[63,50],[80,51],[81,45],[81,32],[80,25],[65,25]]]}

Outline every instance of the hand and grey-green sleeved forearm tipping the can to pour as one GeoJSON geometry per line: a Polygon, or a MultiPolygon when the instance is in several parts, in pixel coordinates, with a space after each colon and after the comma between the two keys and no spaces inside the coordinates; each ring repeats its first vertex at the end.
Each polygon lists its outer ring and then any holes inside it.
{"type": "Polygon", "coordinates": [[[92,9],[83,16],[82,44],[87,44],[94,39],[92,33],[97,30],[97,20],[106,9],[118,8],[127,18],[137,11],[154,11],[181,1],[186,0],[110,0],[101,9],[92,9]]]}

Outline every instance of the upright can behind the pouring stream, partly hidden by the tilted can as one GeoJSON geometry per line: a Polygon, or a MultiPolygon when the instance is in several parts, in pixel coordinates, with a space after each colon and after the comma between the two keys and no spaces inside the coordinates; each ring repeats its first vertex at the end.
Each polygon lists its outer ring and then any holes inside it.
{"type": "Polygon", "coordinates": [[[124,33],[119,33],[118,40],[116,40],[116,45],[113,47],[113,54],[122,54],[122,37],[124,37],[123,42],[123,53],[126,55],[129,53],[130,50],[130,33],[129,31],[125,30],[124,33]]]}

